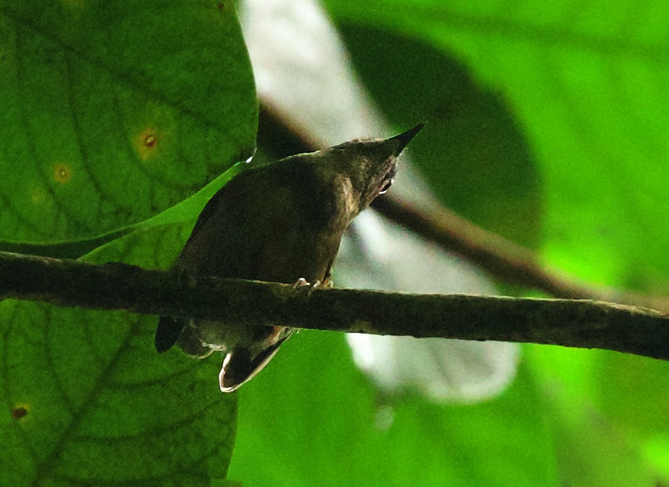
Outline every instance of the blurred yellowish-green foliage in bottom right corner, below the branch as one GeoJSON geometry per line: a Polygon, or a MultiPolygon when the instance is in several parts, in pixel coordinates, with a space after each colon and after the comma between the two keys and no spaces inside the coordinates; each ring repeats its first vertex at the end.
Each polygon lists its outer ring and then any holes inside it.
{"type": "Polygon", "coordinates": [[[658,462],[652,454],[646,457],[646,441],[638,426],[646,423],[653,434],[658,427],[666,429],[667,394],[663,387],[652,390],[635,379],[643,376],[644,365],[664,364],[602,350],[538,345],[525,349],[544,390],[545,413],[559,432],[555,450],[565,483],[574,487],[659,485],[661,470],[654,463],[663,465],[666,475],[666,461],[658,462]],[[627,380],[620,380],[623,368],[627,380]]]}

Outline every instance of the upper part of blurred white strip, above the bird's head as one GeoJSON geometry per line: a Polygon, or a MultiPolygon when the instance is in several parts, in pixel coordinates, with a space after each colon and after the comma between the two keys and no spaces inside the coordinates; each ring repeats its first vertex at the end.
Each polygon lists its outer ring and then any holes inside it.
{"type": "Polygon", "coordinates": [[[262,100],[323,147],[372,134],[391,135],[317,2],[248,0],[241,6],[244,39],[262,100]]]}

